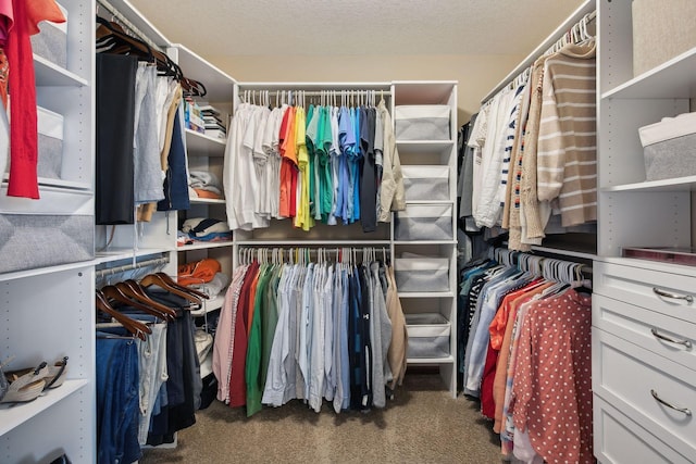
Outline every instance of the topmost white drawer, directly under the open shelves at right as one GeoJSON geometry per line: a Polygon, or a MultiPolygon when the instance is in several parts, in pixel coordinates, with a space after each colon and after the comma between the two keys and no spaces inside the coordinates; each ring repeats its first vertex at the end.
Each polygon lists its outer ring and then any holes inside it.
{"type": "Polygon", "coordinates": [[[598,294],[696,323],[695,277],[602,262],[594,275],[598,294]]]}

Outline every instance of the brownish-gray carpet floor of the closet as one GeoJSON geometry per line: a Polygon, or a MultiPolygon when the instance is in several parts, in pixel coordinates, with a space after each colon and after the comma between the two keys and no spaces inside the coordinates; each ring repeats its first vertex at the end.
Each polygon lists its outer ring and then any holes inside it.
{"type": "Polygon", "coordinates": [[[385,410],[316,414],[299,401],[247,418],[213,401],[156,463],[500,463],[500,444],[478,403],[452,399],[439,376],[407,374],[385,410]]]}

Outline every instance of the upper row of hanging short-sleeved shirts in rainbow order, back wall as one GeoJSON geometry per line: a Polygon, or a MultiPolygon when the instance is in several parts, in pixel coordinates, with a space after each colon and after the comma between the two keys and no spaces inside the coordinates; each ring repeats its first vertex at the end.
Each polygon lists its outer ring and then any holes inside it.
{"type": "MultiPolygon", "coordinates": [[[[406,208],[391,117],[384,99],[344,92],[322,104],[245,99],[231,122],[224,162],[227,221],[233,230],[289,218],[310,230],[360,222],[363,231],[406,208]],[[352,100],[352,101],[350,101],[352,100]],[[325,103],[325,104],[324,104],[325,103]],[[363,104],[360,104],[363,103],[363,104]]],[[[328,96],[328,92],[326,93],[328,96]]]]}

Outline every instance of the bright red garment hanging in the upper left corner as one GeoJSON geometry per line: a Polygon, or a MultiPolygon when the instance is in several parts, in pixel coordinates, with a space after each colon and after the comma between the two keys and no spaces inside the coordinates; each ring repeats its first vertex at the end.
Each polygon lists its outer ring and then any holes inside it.
{"type": "Polygon", "coordinates": [[[29,36],[39,32],[40,21],[64,23],[53,0],[12,0],[14,24],[8,35],[10,105],[10,184],[11,197],[39,198],[36,83],[29,36]]]}

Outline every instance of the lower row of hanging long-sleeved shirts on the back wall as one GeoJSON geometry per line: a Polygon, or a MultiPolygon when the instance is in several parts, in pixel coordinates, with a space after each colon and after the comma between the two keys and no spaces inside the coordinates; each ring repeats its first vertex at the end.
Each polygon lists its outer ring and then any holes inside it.
{"type": "Polygon", "coordinates": [[[303,400],[320,412],[385,407],[406,373],[408,335],[393,267],[365,255],[330,263],[253,259],[235,269],[213,347],[217,399],[303,400]]]}

